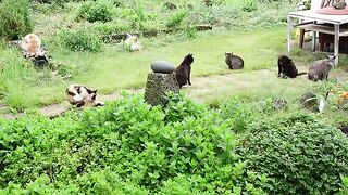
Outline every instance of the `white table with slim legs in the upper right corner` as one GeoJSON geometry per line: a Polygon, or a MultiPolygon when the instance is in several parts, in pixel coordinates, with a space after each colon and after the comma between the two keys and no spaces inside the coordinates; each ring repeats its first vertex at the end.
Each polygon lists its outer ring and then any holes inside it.
{"type": "MultiPolygon", "coordinates": [[[[287,17],[287,51],[291,50],[291,30],[294,26],[299,28],[309,29],[319,32],[325,32],[334,35],[334,55],[335,65],[338,64],[338,49],[339,49],[339,37],[348,36],[348,29],[340,28],[340,25],[348,23],[348,15],[326,15],[319,14],[314,10],[306,10],[289,13],[287,17]],[[294,18],[301,18],[303,21],[312,21],[311,23],[301,23],[294,25],[294,18]],[[331,26],[320,25],[320,23],[332,24],[331,26]]],[[[315,50],[315,34],[313,34],[312,49],[315,50]]]]}

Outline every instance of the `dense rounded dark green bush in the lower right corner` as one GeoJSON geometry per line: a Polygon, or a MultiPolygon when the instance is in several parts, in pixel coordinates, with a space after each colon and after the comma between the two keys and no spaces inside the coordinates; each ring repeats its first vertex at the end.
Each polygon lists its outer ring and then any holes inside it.
{"type": "Polygon", "coordinates": [[[334,194],[348,173],[347,138],[313,114],[257,122],[240,150],[248,168],[273,180],[270,194],[334,194]]]}

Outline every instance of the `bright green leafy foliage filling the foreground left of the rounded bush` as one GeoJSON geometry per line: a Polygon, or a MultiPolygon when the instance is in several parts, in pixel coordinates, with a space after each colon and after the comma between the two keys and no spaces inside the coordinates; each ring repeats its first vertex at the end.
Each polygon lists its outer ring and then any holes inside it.
{"type": "Polygon", "coordinates": [[[245,169],[234,152],[238,139],[219,113],[179,100],[170,100],[179,107],[163,109],[126,95],[103,108],[54,120],[27,116],[2,121],[0,187],[84,194],[262,193],[266,178],[245,169]],[[176,116],[184,110],[191,113],[176,116]]]}

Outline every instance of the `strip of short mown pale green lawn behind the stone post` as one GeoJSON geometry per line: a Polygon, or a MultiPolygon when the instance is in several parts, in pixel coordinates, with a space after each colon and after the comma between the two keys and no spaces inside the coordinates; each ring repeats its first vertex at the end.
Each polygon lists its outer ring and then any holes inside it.
{"type": "MultiPolygon", "coordinates": [[[[272,94],[272,90],[282,92],[285,89],[282,89],[282,82],[278,82],[275,77],[275,69],[273,69],[274,78],[272,79],[269,79],[268,75],[256,76],[258,74],[251,70],[275,67],[277,55],[286,53],[285,38],[286,31],[284,28],[271,28],[252,31],[199,32],[194,40],[173,41],[165,47],[158,48],[149,44],[150,47],[145,47],[145,50],[132,53],[117,52],[113,47],[109,47],[103,53],[55,51],[53,53],[54,61],[82,68],[79,75],[66,82],[62,80],[34,82],[34,84],[25,87],[23,82],[12,83],[14,90],[7,91],[5,103],[10,107],[20,109],[58,103],[65,99],[64,89],[71,83],[84,83],[99,89],[103,94],[126,88],[141,88],[146,83],[147,74],[151,72],[150,63],[152,61],[162,58],[177,66],[187,53],[194,53],[194,78],[227,74],[229,72],[224,62],[224,53],[229,51],[244,57],[244,72],[246,73],[241,74],[244,76],[239,80],[249,82],[250,87],[246,89],[243,86],[234,86],[229,89],[226,86],[226,89],[223,89],[223,92],[217,96],[228,96],[229,91],[250,94],[257,91],[260,93],[260,81],[263,83],[262,94],[270,92],[272,94]],[[264,90],[263,88],[272,90],[264,90]]],[[[144,40],[144,44],[152,40],[144,40]]],[[[293,55],[298,65],[307,65],[307,62],[315,58],[315,55],[308,55],[307,52],[296,49],[293,55]]],[[[294,84],[294,91],[296,91],[297,86],[301,87],[301,83],[294,84]]],[[[216,88],[220,87],[216,86],[216,88]]],[[[209,99],[209,95],[207,96],[209,99]]]]}

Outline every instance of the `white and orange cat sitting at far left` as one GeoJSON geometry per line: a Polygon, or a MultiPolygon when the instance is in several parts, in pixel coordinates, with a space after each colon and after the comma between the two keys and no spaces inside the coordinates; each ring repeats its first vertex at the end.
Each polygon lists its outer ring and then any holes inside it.
{"type": "Polygon", "coordinates": [[[35,34],[28,34],[26,35],[21,41],[20,41],[20,48],[22,50],[22,54],[27,57],[35,57],[38,55],[44,55],[45,50],[41,48],[41,40],[40,38],[35,34]]]}

